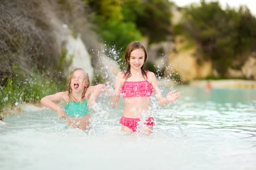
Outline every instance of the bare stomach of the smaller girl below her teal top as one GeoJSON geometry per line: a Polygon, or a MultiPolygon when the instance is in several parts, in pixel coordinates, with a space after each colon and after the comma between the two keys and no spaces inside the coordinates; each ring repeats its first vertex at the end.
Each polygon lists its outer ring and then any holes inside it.
{"type": "Polygon", "coordinates": [[[90,113],[82,117],[67,116],[67,127],[74,127],[79,129],[90,128],[90,113]]]}

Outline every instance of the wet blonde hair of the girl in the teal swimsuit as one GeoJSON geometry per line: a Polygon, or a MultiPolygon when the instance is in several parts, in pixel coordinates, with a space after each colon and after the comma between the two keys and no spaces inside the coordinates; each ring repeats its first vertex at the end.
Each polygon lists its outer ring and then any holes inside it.
{"type": "MultiPolygon", "coordinates": [[[[67,79],[67,86],[66,86],[67,90],[66,90],[66,91],[68,91],[68,94],[69,94],[69,95],[68,95],[68,102],[70,102],[71,97],[73,97],[74,99],[76,99],[76,98],[73,96],[73,94],[72,94],[72,88],[71,88],[70,84],[71,84],[71,78],[72,78],[72,76],[73,76],[73,73],[74,73],[75,71],[77,71],[77,70],[82,70],[82,71],[84,71],[84,69],[82,69],[82,68],[75,68],[75,69],[73,69],[72,71],[70,71],[70,75],[69,75],[69,77],[68,77],[68,79],[67,79]]],[[[85,76],[84,80],[85,80],[86,85],[85,85],[85,87],[84,87],[84,91],[83,91],[82,98],[81,98],[80,102],[83,102],[83,101],[84,101],[84,100],[83,100],[84,94],[85,94],[87,88],[90,86],[89,75],[88,75],[88,73],[85,72],[85,71],[84,71],[84,76],[85,76]]],[[[76,101],[78,101],[78,100],[76,99],[76,101]]]]}

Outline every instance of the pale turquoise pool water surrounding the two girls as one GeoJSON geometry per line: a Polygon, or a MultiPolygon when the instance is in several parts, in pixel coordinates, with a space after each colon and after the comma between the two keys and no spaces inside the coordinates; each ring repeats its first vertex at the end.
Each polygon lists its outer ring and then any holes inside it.
{"type": "Polygon", "coordinates": [[[0,124],[0,169],[254,170],[256,90],[176,88],[182,96],[165,108],[152,97],[151,136],[120,132],[122,100],[112,109],[100,97],[89,131],[26,106],[0,124]]]}

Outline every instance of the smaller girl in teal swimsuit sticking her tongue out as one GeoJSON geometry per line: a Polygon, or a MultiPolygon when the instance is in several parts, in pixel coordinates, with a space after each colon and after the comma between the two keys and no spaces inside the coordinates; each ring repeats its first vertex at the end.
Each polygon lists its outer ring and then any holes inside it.
{"type": "Polygon", "coordinates": [[[67,119],[66,127],[89,129],[90,108],[105,89],[105,85],[102,84],[90,86],[88,74],[81,68],[75,68],[70,72],[67,90],[45,96],[41,103],[57,111],[60,119],[67,119]],[[61,100],[65,103],[64,110],[54,103],[61,100]]]}

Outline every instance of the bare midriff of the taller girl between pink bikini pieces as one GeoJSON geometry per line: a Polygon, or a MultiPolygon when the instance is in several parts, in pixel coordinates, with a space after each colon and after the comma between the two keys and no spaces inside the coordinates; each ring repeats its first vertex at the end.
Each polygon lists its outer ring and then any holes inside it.
{"type": "Polygon", "coordinates": [[[125,97],[123,116],[127,118],[149,117],[150,97],[125,97]]]}

